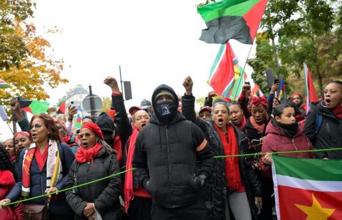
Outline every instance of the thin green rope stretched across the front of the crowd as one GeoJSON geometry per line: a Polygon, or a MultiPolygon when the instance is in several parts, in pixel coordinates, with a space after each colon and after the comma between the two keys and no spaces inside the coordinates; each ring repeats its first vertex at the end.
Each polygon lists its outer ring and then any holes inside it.
{"type": "MultiPolygon", "coordinates": [[[[331,149],[319,149],[319,150],[269,152],[269,153],[270,154],[295,154],[295,153],[327,152],[327,151],[341,151],[341,150],[342,150],[342,148],[331,148],[331,149]]],[[[214,156],[213,158],[225,158],[225,157],[234,157],[234,156],[256,156],[256,155],[264,155],[264,154],[266,154],[266,153],[261,153],[260,152],[260,153],[255,153],[255,154],[236,154],[236,155],[214,156]]],[[[116,174],[113,174],[113,175],[110,175],[110,176],[106,176],[106,177],[103,177],[103,178],[100,178],[100,179],[95,179],[93,181],[86,182],[86,183],[83,183],[83,184],[80,184],[80,185],[76,185],[76,186],[73,186],[73,187],[65,188],[63,190],[59,190],[58,192],[43,194],[43,195],[40,195],[40,196],[31,197],[31,198],[25,198],[25,199],[22,199],[22,200],[18,200],[16,202],[10,202],[10,203],[7,203],[7,204],[3,204],[2,206],[16,205],[18,203],[25,202],[25,201],[30,201],[30,200],[33,200],[33,199],[36,199],[36,198],[43,198],[43,197],[47,197],[49,195],[54,195],[54,194],[62,193],[62,192],[68,191],[68,190],[72,190],[72,189],[78,188],[78,187],[86,186],[86,185],[91,184],[91,183],[102,181],[102,180],[111,178],[113,176],[119,176],[121,174],[127,173],[128,171],[132,171],[132,170],[135,170],[135,169],[136,168],[133,167],[133,168],[131,168],[129,170],[125,170],[125,171],[122,171],[120,173],[116,173],[116,174]]]]}

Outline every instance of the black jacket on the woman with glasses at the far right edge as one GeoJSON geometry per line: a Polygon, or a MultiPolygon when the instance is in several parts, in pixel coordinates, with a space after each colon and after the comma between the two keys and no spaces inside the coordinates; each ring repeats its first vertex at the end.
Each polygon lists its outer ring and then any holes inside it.
{"type": "MultiPolygon", "coordinates": [[[[304,133],[310,139],[314,149],[342,147],[342,120],[324,106],[324,101],[311,105],[306,116],[304,133]],[[321,127],[315,135],[316,112],[323,116],[321,127]]],[[[317,152],[317,158],[342,159],[342,151],[317,152]]]]}

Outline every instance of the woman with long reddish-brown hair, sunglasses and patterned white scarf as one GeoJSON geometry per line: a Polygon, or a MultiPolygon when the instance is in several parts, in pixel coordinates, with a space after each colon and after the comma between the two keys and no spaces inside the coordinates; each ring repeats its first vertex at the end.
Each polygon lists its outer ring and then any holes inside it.
{"type": "MultiPolygon", "coordinates": [[[[20,197],[36,197],[65,188],[75,157],[61,142],[54,119],[43,113],[34,115],[30,122],[30,140],[33,143],[20,154],[18,182],[0,201],[1,205],[17,201],[20,197]]],[[[31,204],[48,205],[50,220],[72,219],[73,216],[63,193],[30,200],[23,204],[23,212],[31,204]]]]}

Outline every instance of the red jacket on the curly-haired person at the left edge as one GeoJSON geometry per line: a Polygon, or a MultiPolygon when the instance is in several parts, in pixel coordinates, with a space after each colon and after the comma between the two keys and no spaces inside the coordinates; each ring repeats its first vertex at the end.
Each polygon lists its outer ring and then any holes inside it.
{"type": "MultiPolygon", "coordinates": [[[[0,200],[6,198],[16,182],[8,170],[0,170],[0,200]]],[[[0,211],[0,220],[22,220],[21,204],[14,208],[6,206],[0,211]]]]}

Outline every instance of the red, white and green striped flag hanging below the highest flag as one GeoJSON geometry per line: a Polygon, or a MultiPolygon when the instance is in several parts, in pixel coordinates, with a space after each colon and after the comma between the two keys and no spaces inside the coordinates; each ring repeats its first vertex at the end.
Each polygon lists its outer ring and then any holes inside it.
{"type": "Polygon", "coordinates": [[[216,94],[226,97],[234,86],[234,62],[238,62],[229,42],[222,44],[210,70],[209,85],[216,94]]]}

